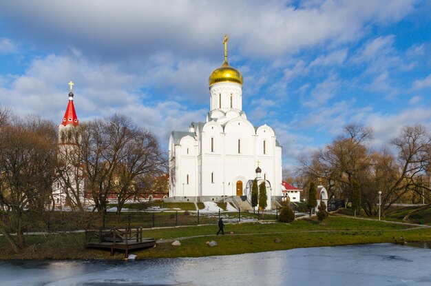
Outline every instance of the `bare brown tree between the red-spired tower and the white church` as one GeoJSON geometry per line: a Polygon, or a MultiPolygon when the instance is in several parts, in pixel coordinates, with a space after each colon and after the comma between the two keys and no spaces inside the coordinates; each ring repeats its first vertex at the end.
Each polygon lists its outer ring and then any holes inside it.
{"type": "Polygon", "coordinates": [[[167,170],[166,156],[154,135],[126,116],[83,125],[81,148],[87,187],[99,212],[106,211],[110,196],[116,198],[120,212],[127,200],[147,192],[143,179],[167,170]]]}

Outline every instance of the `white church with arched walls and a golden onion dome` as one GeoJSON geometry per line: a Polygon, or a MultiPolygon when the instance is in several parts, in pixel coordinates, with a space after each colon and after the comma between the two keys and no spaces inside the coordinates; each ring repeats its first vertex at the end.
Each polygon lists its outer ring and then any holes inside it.
{"type": "Polygon", "coordinates": [[[209,112],[169,138],[169,197],[175,201],[251,199],[251,181],[265,181],[268,209],[282,197],[282,147],[268,125],[254,126],[242,110],[242,74],[227,61],[209,76],[209,112]]]}

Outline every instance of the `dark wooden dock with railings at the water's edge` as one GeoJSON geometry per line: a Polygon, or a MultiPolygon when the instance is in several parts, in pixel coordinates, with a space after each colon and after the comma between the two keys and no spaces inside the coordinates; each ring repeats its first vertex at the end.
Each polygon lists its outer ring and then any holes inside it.
{"type": "Polygon", "coordinates": [[[125,258],[129,256],[129,250],[143,249],[154,247],[156,240],[154,238],[144,238],[143,229],[98,229],[85,231],[85,247],[109,249],[111,255],[115,250],[124,250],[125,258]]]}

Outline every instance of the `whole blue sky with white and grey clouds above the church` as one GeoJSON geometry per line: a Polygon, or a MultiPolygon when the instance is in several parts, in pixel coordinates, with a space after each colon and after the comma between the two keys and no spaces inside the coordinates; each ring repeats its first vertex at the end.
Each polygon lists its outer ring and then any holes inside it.
{"type": "Polygon", "coordinates": [[[0,105],[60,123],[126,114],[166,146],[209,110],[208,76],[244,76],[242,106],[283,146],[284,167],[346,123],[375,147],[431,130],[430,1],[0,0],[0,105]]]}

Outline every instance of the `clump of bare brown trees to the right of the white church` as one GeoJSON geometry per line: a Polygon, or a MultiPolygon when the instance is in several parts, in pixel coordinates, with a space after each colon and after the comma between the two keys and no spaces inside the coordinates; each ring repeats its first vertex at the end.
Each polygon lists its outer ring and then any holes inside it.
{"type": "Polygon", "coordinates": [[[368,216],[377,213],[378,192],[382,192],[381,211],[385,214],[393,203],[402,198],[430,193],[423,183],[429,174],[431,139],[422,125],[406,126],[392,140],[397,156],[388,148],[372,152],[367,141],[372,139],[369,128],[347,125],[344,134],[315,152],[311,159],[302,160],[300,171],[308,176],[326,178],[338,187],[345,198],[353,190],[353,182],[361,185],[361,204],[368,216]]]}

